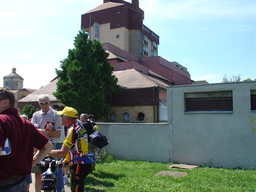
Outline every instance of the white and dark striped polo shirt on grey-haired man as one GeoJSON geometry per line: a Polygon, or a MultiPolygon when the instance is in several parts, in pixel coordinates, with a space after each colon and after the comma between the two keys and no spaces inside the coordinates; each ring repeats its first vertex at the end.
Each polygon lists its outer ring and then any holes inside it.
{"type": "MultiPolygon", "coordinates": [[[[54,123],[54,129],[56,131],[62,129],[60,115],[58,115],[57,111],[52,108],[50,108],[46,114],[44,114],[42,110],[34,112],[31,119],[33,124],[38,124],[39,129],[44,129],[44,125],[47,121],[54,123]]],[[[58,137],[48,137],[48,139],[52,143],[57,143],[58,141],[58,137]]]]}

